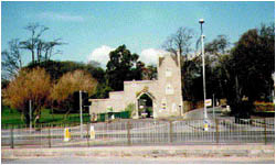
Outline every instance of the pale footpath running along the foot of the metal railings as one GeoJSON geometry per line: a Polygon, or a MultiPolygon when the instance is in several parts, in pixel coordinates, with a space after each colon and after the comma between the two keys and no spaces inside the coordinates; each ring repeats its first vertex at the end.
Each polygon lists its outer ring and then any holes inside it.
{"type": "Polygon", "coordinates": [[[53,148],[3,148],[2,158],[31,157],[275,157],[275,144],[91,146],[53,148]]]}

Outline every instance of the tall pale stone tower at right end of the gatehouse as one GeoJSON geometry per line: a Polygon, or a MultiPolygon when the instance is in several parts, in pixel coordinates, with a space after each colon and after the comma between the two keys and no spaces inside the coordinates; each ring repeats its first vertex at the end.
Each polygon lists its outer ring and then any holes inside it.
{"type": "Polygon", "coordinates": [[[158,117],[182,116],[180,56],[167,54],[158,62],[158,117]]]}

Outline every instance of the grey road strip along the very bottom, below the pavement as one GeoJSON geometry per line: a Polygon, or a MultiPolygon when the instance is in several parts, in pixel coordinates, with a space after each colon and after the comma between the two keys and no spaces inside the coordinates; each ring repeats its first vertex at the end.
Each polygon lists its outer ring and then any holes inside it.
{"type": "Polygon", "coordinates": [[[2,164],[274,164],[269,157],[47,157],[2,160],[2,164]]]}

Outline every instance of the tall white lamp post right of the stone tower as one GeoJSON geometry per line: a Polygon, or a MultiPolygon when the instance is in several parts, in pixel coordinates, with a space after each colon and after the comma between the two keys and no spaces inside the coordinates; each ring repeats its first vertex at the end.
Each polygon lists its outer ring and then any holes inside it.
{"type": "Polygon", "coordinates": [[[202,52],[202,72],[203,72],[203,97],[204,97],[204,130],[208,131],[208,114],[206,114],[206,103],[205,103],[205,99],[206,99],[206,89],[205,89],[205,59],[204,59],[204,35],[203,35],[203,29],[202,25],[204,23],[203,19],[200,19],[199,21],[200,23],[200,28],[201,28],[201,52],[202,52]]]}

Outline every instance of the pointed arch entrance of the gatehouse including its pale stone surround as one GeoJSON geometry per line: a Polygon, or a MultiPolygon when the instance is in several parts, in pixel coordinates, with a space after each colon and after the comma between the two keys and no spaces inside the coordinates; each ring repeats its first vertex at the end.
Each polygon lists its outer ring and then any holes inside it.
{"type": "Polygon", "coordinates": [[[142,91],[136,97],[136,117],[155,117],[156,98],[149,91],[142,91]]]}

